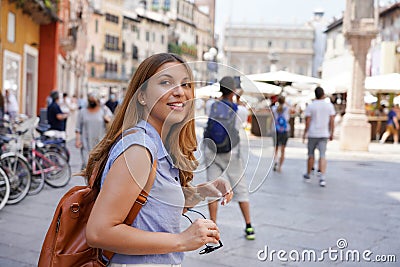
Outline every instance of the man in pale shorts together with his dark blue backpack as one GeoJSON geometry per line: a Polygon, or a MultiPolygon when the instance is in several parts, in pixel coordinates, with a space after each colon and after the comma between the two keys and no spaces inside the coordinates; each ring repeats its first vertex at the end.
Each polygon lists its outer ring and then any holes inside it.
{"type": "MultiPolygon", "coordinates": [[[[225,76],[221,79],[220,91],[222,99],[212,104],[204,131],[207,179],[212,181],[215,177],[226,174],[233,187],[234,199],[239,203],[245,220],[245,237],[254,240],[239,137],[240,125],[247,121],[248,111],[243,105],[232,102],[235,95],[235,81],[232,77],[225,76]]],[[[211,220],[216,222],[218,202],[210,200],[208,209],[211,220]]]]}

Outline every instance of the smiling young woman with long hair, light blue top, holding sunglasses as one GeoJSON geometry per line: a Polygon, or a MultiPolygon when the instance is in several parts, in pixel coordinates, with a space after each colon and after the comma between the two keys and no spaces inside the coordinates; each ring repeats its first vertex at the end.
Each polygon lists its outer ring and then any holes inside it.
{"type": "Polygon", "coordinates": [[[181,231],[185,207],[232,190],[223,179],[192,186],[196,136],[192,73],[174,54],[156,54],[136,70],[111,129],[91,153],[84,175],[104,166],[101,190],[87,224],[91,246],[115,254],[111,266],[180,266],[183,252],[219,241],[211,220],[198,219],[181,231]],[[132,131],[133,130],[133,131],[132,131]],[[122,138],[121,138],[122,136],[122,138]],[[157,160],[147,203],[131,226],[124,224],[157,160]]]}

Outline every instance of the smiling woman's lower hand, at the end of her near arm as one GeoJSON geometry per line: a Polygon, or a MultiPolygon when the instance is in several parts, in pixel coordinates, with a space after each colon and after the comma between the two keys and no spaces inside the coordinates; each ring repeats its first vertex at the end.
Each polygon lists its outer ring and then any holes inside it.
{"type": "Polygon", "coordinates": [[[218,244],[220,233],[217,225],[207,219],[197,219],[179,234],[183,251],[192,251],[207,243],[218,244]]]}

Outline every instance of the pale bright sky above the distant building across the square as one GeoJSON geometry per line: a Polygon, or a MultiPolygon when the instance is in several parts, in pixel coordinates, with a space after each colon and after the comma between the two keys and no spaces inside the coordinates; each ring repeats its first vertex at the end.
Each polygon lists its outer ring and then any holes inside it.
{"type": "MultiPolygon", "coordinates": [[[[375,0],[380,5],[394,0],[375,0]]],[[[302,24],[322,9],[330,21],[340,18],[346,0],[216,0],[215,32],[221,34],[227,22],[234,24],[302,24]]]]}

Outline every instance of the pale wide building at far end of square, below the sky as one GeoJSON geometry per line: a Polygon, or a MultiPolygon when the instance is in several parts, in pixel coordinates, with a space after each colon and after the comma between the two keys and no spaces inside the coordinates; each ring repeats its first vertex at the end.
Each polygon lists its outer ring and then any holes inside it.
{"type": "Polygon", "coordinates": [[[228,25],[224,34],[226,63],[243,74],[312,74],[314,30],[309,25],[228,25]]]}

